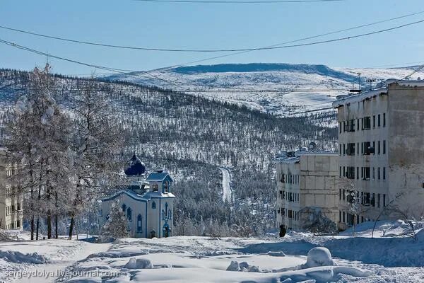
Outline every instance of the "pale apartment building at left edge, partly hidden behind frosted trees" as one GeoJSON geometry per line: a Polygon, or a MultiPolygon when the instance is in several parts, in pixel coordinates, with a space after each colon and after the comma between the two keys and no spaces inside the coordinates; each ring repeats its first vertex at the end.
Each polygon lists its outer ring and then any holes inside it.
{"type": "Polygon", "coordinates": [[[6,160],[6,148],[0,146],[0,228],[23,229],[23,195],[9,177],[16,168],[6,160]]]}

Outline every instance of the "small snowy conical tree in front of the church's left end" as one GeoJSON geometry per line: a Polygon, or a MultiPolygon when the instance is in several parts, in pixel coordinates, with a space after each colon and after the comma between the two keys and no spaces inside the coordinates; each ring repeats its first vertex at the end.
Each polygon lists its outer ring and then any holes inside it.
{"type": "Polygon", "coordinates": [[[119,205],[119,200],[112,203],[110,214],[107,221],[100,230],[99,241],[105,243],[116,238],[124,238],[129,236],[128,220],[125,213],[119,205]]]}

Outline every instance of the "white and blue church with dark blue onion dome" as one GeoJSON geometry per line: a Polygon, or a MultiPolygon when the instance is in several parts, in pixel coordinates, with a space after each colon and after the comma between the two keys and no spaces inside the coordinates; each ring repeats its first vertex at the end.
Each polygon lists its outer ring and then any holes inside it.
{"type": "Polygon", "coordinates": [[[100,224],[105,224],[112,204],[119,200],[131,237],[171,236],[175,195],[172,194],[170,174],[162,170],[147,173],[146,166],[136,154],[124,172],[128,182],[122,190],[101,200],[100,224]]]}

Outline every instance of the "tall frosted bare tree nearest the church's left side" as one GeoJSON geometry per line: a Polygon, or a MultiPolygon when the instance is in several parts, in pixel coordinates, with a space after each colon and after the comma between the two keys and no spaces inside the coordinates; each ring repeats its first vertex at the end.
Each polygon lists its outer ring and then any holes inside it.
{"type": "Polygon", "coordinates": [[[84,81],[81,92],[73,98],[74,138],[72,144],[73,190],[69,195],[69,238],[72,238],[75,216],[105,186],[113,186],[113,177],[120,169],[117,153],[122,149],[122,133],[110,104],[95,88],[93,81],[84,81]]]}

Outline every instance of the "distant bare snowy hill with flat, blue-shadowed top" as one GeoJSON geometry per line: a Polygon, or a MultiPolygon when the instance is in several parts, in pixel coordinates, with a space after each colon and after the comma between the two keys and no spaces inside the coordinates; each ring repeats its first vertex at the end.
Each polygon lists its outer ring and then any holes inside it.
{"type": "MultiPolygon", "coordinates": [[[[336,96],[363,88],[367,79],[402,79],[416,67],[394,69],[330,68],[310,64],[217,64],[159,69],[146,73],[108,76],[112,81],[130,81],[199,94],[251,108],[288,115],[328,108],[336,96]]],[[[411,79],[424,78],[424,72],[411,79]]]]}

